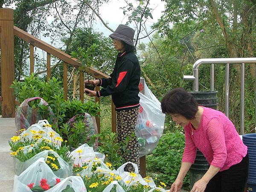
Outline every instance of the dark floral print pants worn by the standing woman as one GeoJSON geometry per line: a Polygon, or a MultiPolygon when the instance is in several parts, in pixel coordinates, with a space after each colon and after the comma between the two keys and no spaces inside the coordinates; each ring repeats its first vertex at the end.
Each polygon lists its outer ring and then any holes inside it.
{"type": "MultiPolygon", "coordinates": [[[[137,114],[139,108],[127,109],[122,111],[117,111],[117,140],[118,142],[125,143],[126,137],[130,137],[130,140],[126,146],[125,161],[137,164],[140,171],[140,156],[139,156],[139,143],[135,135],[135,124],[137,121],[137,114]]],[[[124,151],[122,151],[124,152],[124,151]]],[[[134,172],[134,167],[129,163],[125,166],[125,171],[134,172]]]]}

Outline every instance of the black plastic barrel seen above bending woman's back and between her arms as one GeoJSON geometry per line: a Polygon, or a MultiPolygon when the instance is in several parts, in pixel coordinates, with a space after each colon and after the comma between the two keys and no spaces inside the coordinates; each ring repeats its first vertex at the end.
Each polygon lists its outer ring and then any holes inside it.
{"type": "MultiPolygon", "coordinates": [[[[193,91],[190,92],[195,100],[198,102],[198,105],[217,109],[217,93],[218,91],[193,91]]],[[[189,178],[190,178],[190,189],[194,186],[195,182],[201,179],[209,168],[209,163],[207,162],[204,154],[201,151],[197,150],[195,163],[189,169],[189,178]]]]}

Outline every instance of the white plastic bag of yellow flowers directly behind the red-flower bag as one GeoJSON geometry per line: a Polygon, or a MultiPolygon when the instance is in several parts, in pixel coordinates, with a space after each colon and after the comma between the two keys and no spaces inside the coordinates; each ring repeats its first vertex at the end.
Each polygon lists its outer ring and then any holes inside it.
{"type": "Polygon", "coordinates": [[[24,170],[26,170],[30,165],[35,163],[41,157],[44,158],[44,161],[47,161],[48,154],[53,154],[55,157],[57,157],[56,160],[60,165],[58,171],[54,172],[54,174],[57,177],[66,178],[72,175],[73,165],[70,165],[69,163],[64,161],[55,151],[49,151],[49,150],[41,151],[40,153],[36,154],[34,157],[30,158],[29,160],[26,160],[25,162],[21,162],[20,160],[14,157],[13,161],[15,165],[14,166],[15,174],[20,175],[24,170]]]}

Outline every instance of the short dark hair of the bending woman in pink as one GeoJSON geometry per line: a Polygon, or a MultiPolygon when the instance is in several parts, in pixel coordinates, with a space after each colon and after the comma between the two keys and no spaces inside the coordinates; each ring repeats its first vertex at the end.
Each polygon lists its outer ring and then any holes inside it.
{"type": "Polygon", "coordinates": [[[186,119],[195,119],[198,111],[198,103],[194,96],[183,88],[175,88],[170,90],[161,101],[163,113],[180,114],[186,119]]]}

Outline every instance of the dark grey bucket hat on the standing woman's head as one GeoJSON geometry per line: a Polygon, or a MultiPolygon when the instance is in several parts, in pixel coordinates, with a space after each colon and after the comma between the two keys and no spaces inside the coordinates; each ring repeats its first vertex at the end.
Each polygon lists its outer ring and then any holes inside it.
{"type": "Polygon", "coordinates": [[[128,27],[126,25],[120,24],[114,33],[109,35],[112,39],[119,39],[124,41],[125,43],[134,46],[134,29],[131,29],[131,27],[128,27]]]}

